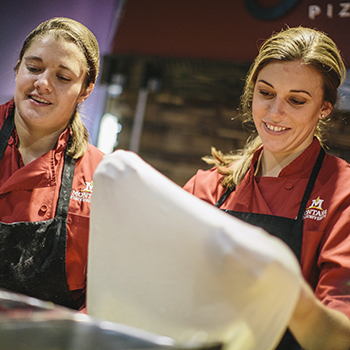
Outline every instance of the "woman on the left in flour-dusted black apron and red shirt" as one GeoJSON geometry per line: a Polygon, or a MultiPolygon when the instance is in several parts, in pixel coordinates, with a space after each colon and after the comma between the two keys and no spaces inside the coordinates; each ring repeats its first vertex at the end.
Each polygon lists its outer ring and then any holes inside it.
{"type": "Polygon", "coordinates": [[[41,23],[0,106],[0,288],[85,306],[93,173],[103,153],[77,111],[99,71],[94,35],[69,18],[41,23]],[[81,200],[72,193],[87,192],[81,200]]]}

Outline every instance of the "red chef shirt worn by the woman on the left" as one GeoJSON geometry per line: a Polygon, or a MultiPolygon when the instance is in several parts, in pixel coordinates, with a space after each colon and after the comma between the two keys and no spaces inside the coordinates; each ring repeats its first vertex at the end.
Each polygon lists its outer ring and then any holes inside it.
{"type": "MultiPolygon", "coordinates": [[[[0,106],[0,128],[12,107],[13,101],[0,106]]],[[[1,222],[43,221],[55,216],[68,133],[66,129],[54,149],[24,166],[14,130],[0,162],[1,222]]],[[[89,144],[84,156],[76,161],[72,184],[66,273],[69,289],[79,305],[85,301],[93,174],[102,157],[103,153],[89,144]]]]}

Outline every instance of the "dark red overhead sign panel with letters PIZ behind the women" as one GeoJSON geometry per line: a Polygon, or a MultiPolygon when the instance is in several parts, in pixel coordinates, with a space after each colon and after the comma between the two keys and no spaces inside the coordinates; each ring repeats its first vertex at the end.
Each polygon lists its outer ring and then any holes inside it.
{"type": "Polygon", "coordinates": [[[128,0],[114,52],[251,61],[286,25],[325,31],[350,67],[350,2],[339,0],[128,0]]]}

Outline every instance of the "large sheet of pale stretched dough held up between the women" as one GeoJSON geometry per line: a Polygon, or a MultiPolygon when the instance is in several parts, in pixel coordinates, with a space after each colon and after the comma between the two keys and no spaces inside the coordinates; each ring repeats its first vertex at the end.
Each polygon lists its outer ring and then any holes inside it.
{"type": "Polygon", "coordinates": [[[289,247],[194,197],[138,155],[106,155],[94,176],[91,316],[225,350],[269,350],[300,292],[289,247]]]}

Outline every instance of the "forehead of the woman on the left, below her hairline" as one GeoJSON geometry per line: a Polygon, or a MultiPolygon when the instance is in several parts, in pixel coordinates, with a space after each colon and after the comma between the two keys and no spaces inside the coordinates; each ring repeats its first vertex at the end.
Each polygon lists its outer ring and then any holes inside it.
{"type": "Polygon", "coordinates": [[[87,69],[85,56],[77,44],[50,34],[34,38],[23,57],[35,58],[44,63],[68,65],[75,70],[87,69]]]}

